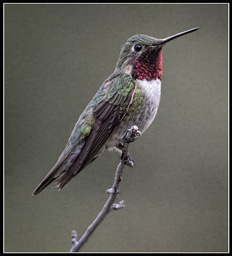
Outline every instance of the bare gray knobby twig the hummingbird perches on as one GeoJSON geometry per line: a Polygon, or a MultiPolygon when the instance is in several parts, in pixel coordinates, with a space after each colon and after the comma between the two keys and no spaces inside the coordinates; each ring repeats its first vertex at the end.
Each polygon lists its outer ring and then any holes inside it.
{"type": "Polygon", "coordinates": [[[85,231],[85,234],[82,235],[82,237],[78,241],[77,241],[77,232],[75,230],[72,230],[73,246],[72,246],[70,252],[78,252],[80,250],[80,247],[87,241],[89,236],[93,233],[95,228],[105,218],[107,213],[109,213],[111,210],[118,210],[125,206],[123,201],[120,201],[118,204],[114,204],[114,201],[119,193],[119,186],[120,186],[120,182],[122,180],[122,171],[123,171],[125,165],[134,166],[134,164],[135,164],[135,161],[130,157],[130,155],[128,153],[129,143],[135,141],[140,134],[141,133],[138,131],[138,127],[136,125],[133,125],[127,131],[127,133],[125,135],[125,139],[124,139],[124,144],[123,144],[123,146],[121,145],[121,150],[122,150],[121,161],[120,161],[120,163],[117,167],[117,170],[115,172],[113,186],[112,186],[112,188],[106,190],[106,193],[110,194],[110,197],[108,198],[107,202],[105,203],[102,211],[97,215],[96,219],[87,228],[87,230],[85,231]]]}

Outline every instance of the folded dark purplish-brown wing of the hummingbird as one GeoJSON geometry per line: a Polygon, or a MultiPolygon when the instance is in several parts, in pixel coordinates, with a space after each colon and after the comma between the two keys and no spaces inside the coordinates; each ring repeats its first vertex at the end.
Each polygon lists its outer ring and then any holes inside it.
{"type": "Polygon", "coordinates": [[[63,188],[69,180],[92,162],[98,154],[101,154],[101,149],[105,142],[127,113],[134,91],[135,84],[127,95],[117,95],[117,97],[114,95],[114,101],[111,101],[112,103],[109,100],[103,99],[94,108],[95,124],[76,161],[72,164],[68,172],[56,181],[58,189],[63,188]]]}

